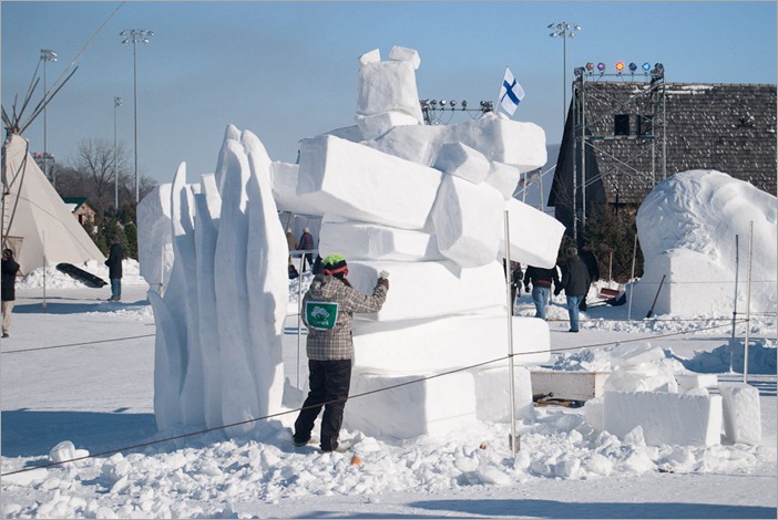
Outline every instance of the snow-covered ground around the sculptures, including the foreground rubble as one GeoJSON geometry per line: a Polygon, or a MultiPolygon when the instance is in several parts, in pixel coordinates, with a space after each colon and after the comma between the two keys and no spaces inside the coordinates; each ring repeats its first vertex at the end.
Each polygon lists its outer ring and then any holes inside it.
{"type": "MultiPolygon", "coordinates": [[[[102,267],[94,266],[100,273],[102,267]]],[[[47,272],[18,284],[11,337],[2,341],[2,514],[6,518],[776,518],[776,318],[750,325],[749,382],[759,388],[760,446],[645,446],[595,434],[582,409],[536,408],[516,426],[482,424],[448,439],[389,444],[345,430],[345,454],[295,448],[295,413],[258,422],[246,437],[221,430],[158,434],[153,416],[154,319],[136,264],[121,303],[47,272]],[[35,278],[38,277],[38,278],[35,278]],[[178,438],[168,439],[174,436],[178,438]],[[89,458],[50,462],[70,440],[89,458]],[[158,443],[156,443],[158,440],[158,443]],[[354,464],[358,457],[361,464],[354,464]]],[[[307,377],[297,335],[297,288],[284,340],[285,371],[307,377]]],[[[617,342],[661,346],[678,370],[729,371],[730,310],[679,319],[592,306],[569,334],[557,298],[550,309],[554,356],[544,368],[608,370],[617,342]]],[[[532,315],[522,295],[519,312],[532,315]]],[[[743,336],[743,326],[737,334],[743,336]]],[[[738,365],[739,363],[739,365],[738,365]]],[[[741,357],[735,356],[735,370],[741,357]]],[[[397,410],[402,414],[401,409],[397,410]]],[[[348,414],[348,405],[346,407],[348,414]]]]}

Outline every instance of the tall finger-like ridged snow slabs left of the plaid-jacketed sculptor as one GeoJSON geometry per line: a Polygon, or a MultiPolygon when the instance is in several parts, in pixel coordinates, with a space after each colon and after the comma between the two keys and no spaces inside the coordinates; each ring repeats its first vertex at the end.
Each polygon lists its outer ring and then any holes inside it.
{"type": "MultiPolygon", "coordinates": [[[[216,174],[187,184],[182,164],[168,204],[160,205],[170,215],[175,253],[164,295],[149,292],[160,429],[245,423],[281,409],[287,246],[270,169],[259,139],[231,126],[216,174]]],[[[143,241],[158,242],[145,225],[157,206],[139,212],[143,241]]]]}

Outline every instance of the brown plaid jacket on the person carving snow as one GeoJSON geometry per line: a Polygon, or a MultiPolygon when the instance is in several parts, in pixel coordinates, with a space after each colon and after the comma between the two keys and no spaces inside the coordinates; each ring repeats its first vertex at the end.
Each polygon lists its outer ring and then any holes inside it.
{"type": "Polygon", "coordinates": [[[354,357],[351,320],[355,312],[378,312],[387,299],[387,288],[376,284],[368,297],[351,288],[348,282],[329,274],[317,274],[303,298],[303,322],[308,327],[306,352],[309,360],[330,361],[354,357]],[[338,319],[328,331],[311,329],[305,313],[308,301],[338,304],[338,319]]]}

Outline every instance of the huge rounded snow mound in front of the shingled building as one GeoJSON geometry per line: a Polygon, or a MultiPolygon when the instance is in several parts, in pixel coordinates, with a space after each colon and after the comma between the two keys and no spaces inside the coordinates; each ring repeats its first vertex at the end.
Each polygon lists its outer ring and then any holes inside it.
{"type": "Polygon", "coordinates": [[[736,275],[737,308],[744,312],[749,222],[754,222],[750,310],[775,314],[777,211],[776,197],[720,171],[684,171],[658,184],[637,212],[644,258],[644,274],[633,285],[638,314],[645,314],[655,298],[656,314],[730,310],[736,275]]]}

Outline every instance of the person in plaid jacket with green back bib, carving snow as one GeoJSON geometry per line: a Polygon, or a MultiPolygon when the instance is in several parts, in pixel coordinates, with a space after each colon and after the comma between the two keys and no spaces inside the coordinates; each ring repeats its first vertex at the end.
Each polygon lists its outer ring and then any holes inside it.
{"type": "Polygon", "coordinates": [[[388,273],[381,271],[372,295],[366,295],[346,279],[348,264],[340,254],[321,261],[303,298],[303,322],[308,327],[306,353],[310,392],[295,422],[294,440],[304,446],[310,440],[314,422],[324,407],[320,446],[323,451],[338,449],[338,436],[351,384],[351,320],[355,312],[378,312],[389,291],[388,273]]]}

